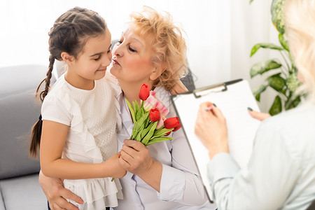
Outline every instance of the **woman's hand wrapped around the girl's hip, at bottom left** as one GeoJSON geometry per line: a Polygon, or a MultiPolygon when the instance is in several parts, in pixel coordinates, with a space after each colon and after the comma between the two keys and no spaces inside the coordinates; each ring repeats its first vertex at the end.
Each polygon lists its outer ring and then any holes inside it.
{"type": "Polygon", "coordinates": [[[78,195],[72,193],[70,190],[64,188],[62,180],[57,178],[50,178],[39,172],[38,182],[43,189],[43,193],[47,197],[49,207],[51,210],[69,209],[78,210],[73,204],[66,201],[66,199],[73,200],[78,204],[83,204],[83,200],[78,195]],[[66,198],[66,199],[65,199],[66,198]]]}

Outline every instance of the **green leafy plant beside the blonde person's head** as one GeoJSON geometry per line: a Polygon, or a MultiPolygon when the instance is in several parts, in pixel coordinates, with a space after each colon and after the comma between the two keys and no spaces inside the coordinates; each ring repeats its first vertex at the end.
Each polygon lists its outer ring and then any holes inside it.
{"type": "Polygon", "coordinates": [[[302,95],[294,94],[297,87],[300,86],[300,82],[297,80],[297,69],[290,54],[288,43],[283,36],[285,34],[282,18],[282,6],[284,1],[285,0],[273,0],[271,6],[272,23],[277,31],[279,31],[280,45],[258,43],[253,46],[250,55],[250,57],[252,57],[260,48],[267,48],[277,50],[283,58],[283,62],[279,59],[268,59],[251,66],[251,78],[272,71],[272,74],[265,79],[265,84],[253,90],[255,99],[258,102],[260,102],[260,94],[262,94],[267,87],[271,87],[276,91],[276,97],[274,97],[274,102],[269,109],[269,113],[272,116],[280,113],[283,109],[288,110],[294,108],[300,104],[302,97],[302,95]]]}

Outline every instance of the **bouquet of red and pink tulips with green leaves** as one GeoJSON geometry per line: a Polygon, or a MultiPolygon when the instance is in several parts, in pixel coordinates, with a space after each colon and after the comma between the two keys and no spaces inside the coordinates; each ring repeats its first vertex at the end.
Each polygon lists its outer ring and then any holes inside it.
{"type": "Polygon", "coordinates": [[[148,85],[142,85],[139,98],[141,99],[140,105],[137,101],[130,104],[125,99],[134,121],[130,139],[141,141],[145,146],[172,140],[172,137],[167,136],[181,128],[179,118],[165,118],[169,110],[157,99],[156,92],[150,91],[148,85]]]}

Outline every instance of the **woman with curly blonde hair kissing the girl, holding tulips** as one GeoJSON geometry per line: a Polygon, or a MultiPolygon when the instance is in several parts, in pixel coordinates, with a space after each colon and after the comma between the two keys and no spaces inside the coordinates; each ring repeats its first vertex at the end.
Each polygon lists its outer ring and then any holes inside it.
{"type": "MultiPolygon", "coordinates": [[[[140,104],[139,90],[147,84],[169,109],[167,118],[174,117],[169,90],[187,73],[186,41],[171,15],[145,7],[144,13],[132,13],[131,18],[113,47],[109,66],[121,87],[116,97],[123,122],[117,133],[118,151],[120,166],[127,170],[126,176],[120,179],[124,199],[118,201],[115,209],[211,209],[183,130],[172,132],[171,141],[149,146],[127,140],[131,137],[133,122],[125,99],[140,104]]],[[[75,209],[62,196],[78,202],[76,195],[60,186],[55,190],[56,183],[41,178],[50,204],[75,209]]]]}

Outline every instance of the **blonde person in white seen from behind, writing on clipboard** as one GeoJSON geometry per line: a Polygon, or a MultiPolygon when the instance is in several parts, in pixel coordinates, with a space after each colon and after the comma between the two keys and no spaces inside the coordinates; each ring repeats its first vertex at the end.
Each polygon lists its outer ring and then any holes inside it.
{"type": "Polygon", "coordinates": [[[315,200],[315,0],[286,0],[283,14],[299,91],[307,97],[262,121],[244,169],[229,154],[219,107],[200,104],[195,133],[209,151],[211,197],[221,210],[307,209],[315,200]]]}

